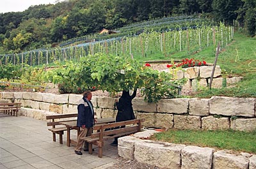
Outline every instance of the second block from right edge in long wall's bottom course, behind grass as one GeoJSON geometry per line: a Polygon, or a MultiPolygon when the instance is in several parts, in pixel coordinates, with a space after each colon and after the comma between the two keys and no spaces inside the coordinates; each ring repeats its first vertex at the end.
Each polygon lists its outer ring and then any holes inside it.
{"type": "Polygon", "coordinates": [[[228,117],[216,118],[212,115],[202,118],[202,129],[230,129],[230,120],[228,117]]]}

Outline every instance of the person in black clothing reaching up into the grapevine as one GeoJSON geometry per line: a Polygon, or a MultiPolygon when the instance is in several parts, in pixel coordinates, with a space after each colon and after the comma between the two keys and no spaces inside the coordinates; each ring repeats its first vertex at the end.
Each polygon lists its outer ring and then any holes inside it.
{"type": "MultiPolygon", "coordinates": [[[[129,91],[122,91],[122,96],[120,97],[119,101],[116,101],[116,108],[118,110],[116,115],[116,122],[130,121],[135,119],[132,108],[132,99],[135,98],[136,91],[137,89],[134,90],[132,96],[130,96],[129,91]]],[[[115,137],[115,140],[111,143],[111,145],[118,145],[117,139],[118,137],[115,137]]]]}

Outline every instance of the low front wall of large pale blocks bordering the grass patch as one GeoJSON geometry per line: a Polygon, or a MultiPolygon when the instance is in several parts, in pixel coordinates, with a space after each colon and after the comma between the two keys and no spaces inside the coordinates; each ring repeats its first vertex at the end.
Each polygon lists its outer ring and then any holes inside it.
{"type": "Polygon", "coordinates": [[[145,140],[140,139],[141,133],[118,138],[120,157],[172,169],[256,168],[256,154],[245,152],[234,154],[228,150],[145,140]]]}

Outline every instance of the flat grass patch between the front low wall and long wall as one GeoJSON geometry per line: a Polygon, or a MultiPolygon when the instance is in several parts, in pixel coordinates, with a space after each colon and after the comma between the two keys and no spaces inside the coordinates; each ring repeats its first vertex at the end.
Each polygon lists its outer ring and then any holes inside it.
{"type": "Polygon", "coordinates": [[[256,154],[256,131],[169,129],[151,136],[150,140],[256,154]]]}

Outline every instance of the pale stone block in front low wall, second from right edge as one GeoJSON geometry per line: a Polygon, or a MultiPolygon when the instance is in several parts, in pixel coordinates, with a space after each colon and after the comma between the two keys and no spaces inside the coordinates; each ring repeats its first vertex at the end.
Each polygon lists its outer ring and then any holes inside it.
{"type": "Polygon", "coordinates": [[[232,168],[244,169],[249,167],[249,159],[242,155],[232,154],[227,150],[217,151],[213,154],[214,169],[232,168]]]}

